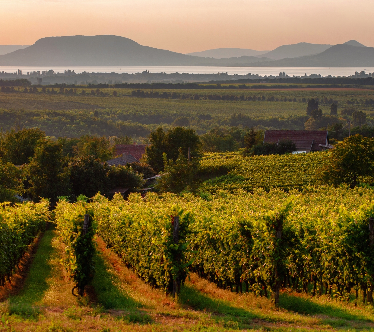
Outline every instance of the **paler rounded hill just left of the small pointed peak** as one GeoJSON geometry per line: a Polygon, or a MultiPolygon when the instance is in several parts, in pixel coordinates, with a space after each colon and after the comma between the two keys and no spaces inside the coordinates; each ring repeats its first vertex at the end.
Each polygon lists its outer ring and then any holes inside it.
{"type": "Polygon", "coordinates": [[[321,53],[331,45],[321,45],[321,44],[310,44],[310,43],[297,43],[291,45],[282,45],[273,49],[273,51],[263,54],[263,57],[267,57],[273,60],[281,60],[284,58],[297,58],[304,55],[312,55],[321,53]]]}

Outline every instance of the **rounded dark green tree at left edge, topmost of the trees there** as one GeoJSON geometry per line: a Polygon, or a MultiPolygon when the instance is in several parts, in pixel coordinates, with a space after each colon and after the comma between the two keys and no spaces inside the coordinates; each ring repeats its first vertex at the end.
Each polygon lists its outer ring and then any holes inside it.
{"type": "Polygon", "coordinates": [[[0,139],[0,156],[3,161],[22,165],[30,161],[35,148],[45,141],[45,132],[38,128],[12,130],[0,139]]]}

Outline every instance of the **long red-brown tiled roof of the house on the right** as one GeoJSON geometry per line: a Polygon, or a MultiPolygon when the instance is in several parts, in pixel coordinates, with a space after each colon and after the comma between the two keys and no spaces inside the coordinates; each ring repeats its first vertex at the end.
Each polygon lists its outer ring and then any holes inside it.
{"type": "Polygon", "coordinates": [[[266,130],[264,143],[278,143],[281,140],[292,140],[297,149],[322,151],[319,144],[326,145],[327,130],[266,130]]]}

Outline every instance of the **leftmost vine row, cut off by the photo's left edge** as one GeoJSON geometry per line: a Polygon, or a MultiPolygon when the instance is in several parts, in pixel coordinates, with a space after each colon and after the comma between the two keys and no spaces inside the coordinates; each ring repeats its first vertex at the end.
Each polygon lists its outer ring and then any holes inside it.
{"type": "Polygon", "coordinates": [[[49,202],[22,203],[13,207],[1,204],[0,208],[0,282],[10,278],[19,260],[39,231],[44,231],[49,220],[49,202]]]}

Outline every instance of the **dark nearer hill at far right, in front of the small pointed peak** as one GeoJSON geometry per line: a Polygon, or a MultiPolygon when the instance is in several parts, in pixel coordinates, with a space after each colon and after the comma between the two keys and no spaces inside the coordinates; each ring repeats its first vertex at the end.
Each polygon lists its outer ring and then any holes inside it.
{"type": "Polygon", "coordinates": [[[338,44],[316,55],[255,63],[271,67],[374,67],[374,48],[338,44]]]}

